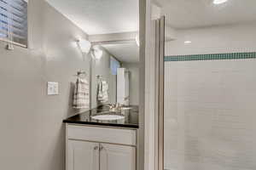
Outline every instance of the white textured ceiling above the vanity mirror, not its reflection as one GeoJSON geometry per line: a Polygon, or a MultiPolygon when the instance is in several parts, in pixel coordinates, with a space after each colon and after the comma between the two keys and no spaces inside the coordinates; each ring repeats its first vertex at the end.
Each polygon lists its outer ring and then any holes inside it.
{"type": "Polygon", "coordinates": [[[47,1],[89,35],[139,28],[139,0],[47,1]]]}

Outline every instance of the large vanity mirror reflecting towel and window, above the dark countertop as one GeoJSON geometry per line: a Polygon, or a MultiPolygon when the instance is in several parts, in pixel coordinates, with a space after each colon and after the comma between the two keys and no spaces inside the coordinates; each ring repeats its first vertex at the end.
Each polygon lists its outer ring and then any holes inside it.
{"type": "MultiPolygon", "coordinates": [[[[130,34],[133,41],[94,42],[100,44],[102,56],[91,63],[92,108],[104,104],[138,105],[139,48],[135,39],[137,33],[130,34]]],[[[123,36],[122,33],[119,36],[123,36]]]]}

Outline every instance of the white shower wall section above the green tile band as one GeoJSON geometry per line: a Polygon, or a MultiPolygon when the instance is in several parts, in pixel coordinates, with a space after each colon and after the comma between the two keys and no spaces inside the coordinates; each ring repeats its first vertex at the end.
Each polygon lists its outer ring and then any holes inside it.
{"type": "Polygon", "coordinates": [[[256,23],[177,30],[177,40],[166,42],[166,56],[256,51],[255,28],[256,23]]]}

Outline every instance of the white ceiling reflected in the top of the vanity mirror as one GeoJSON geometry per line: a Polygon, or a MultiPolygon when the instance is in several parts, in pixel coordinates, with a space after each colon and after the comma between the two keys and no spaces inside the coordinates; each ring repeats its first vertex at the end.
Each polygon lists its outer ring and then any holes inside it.
{"type": "Polygon", "coordinates": [[[113,54],[117,59],[127,63],[136,63],[139,61],[139,48],[136,42],[119,43],[119,44],[104,44],[110,54],[113,54]]]}

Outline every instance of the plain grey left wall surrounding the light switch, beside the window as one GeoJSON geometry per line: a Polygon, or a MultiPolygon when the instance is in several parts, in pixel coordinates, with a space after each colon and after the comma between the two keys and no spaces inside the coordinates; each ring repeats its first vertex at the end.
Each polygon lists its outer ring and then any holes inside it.
{"type": "Polygon", "coordinates": [[[30,48],[0,42],[0,169],[64,170],[71,82],[89,71],[75,41],[87,35],[44,0],[29,1],[28,13],[30,48]],[[48,81],[59,82],[59,95],[46,94],[48,81]]]}

